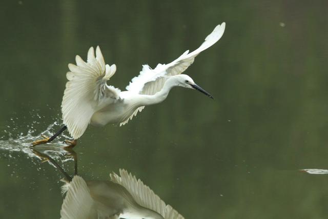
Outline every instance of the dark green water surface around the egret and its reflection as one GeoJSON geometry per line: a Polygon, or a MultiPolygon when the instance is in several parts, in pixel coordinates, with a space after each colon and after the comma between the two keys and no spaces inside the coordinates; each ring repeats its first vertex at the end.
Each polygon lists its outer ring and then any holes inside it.
{"type": "MultiPolygon", "coordinates": [[[[186,218],[327,218],[328,175],[298,171],[328,169],[327,1],[22,0],[0,8],[1,218],[59,218],[62,176],[28,155],[24,136],[61,122],[76,54],[99,45],[117,65],[110,84],[124,89],[142,64],[196,49],[223,21],[223,37],[186,71],[215,100],[177,88],[124,127],[89,127],[75,149],[79,174],[107,180],[125,168],[186,218]]],[[[72,171],[72,161],[62,163],[72,171]]]]}

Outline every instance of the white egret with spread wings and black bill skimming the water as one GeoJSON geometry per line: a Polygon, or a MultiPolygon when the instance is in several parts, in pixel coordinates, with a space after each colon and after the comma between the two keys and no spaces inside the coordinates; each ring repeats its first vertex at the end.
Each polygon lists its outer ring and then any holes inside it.
{"type": "Polygon", "coordinates": [[[104,126],[106,124],[125,125],[145,106],[158,104],[166,99],[173,87],[185,87],[198,90],[213,98],[204,89],[195,84],[193,79],[181,74],[203,50],[215,44],[223,35],[226,23],[217,25],[198,49],[189,50],[172,63],[158,64],[155,69],[144,65],[140,74],[126,87],[126,91],[107,85],[107,81],[116,71],[115,64],[105,64],[100,48],[91,47],[88,51],[87,63],[76,55],[76,65],[69,64],[66,77],[68,82],[64,92],[61,112],[65,126],[55,135],[33,142],[33,145],[51,142],[66,128],[74,138],[71,146],[76,144],[89,124],[104,126]]]}

